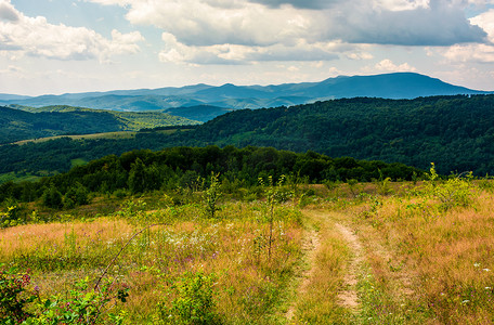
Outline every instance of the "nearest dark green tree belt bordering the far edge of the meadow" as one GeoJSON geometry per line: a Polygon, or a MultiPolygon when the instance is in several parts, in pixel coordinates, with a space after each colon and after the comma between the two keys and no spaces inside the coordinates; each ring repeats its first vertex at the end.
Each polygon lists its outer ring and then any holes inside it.
{"type": "Polygon", "coordinates": [[[159,152],[132,151],[93,160],[69,172],[43,178],[39,182],[6,182],[0,185],[0,203],[31,202],[42,197],[46,205],[61,208],[84,204],[90,192],[131,194],[155,190],[200,190],[208,178],[219,174],[224,192],[259,185],[259,178],[282,174],[292,182],[332,182],[385,178],[412,180],[422,174],[402,164],[329,158],[315,152],[296,154],[272,147],[235,148],[234,146],[172,147],[159,152]]]}

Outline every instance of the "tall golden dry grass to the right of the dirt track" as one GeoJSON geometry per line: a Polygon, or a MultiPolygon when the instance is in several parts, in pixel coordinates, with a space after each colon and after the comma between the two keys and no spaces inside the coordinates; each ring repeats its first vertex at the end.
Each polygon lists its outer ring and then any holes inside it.
{"type": "MultiPolygon", "coordinates": [[[[387,322],[491,324],[494,196],[471,184],[460,204],[450,199],[445,207],[442,197],[425,191],[373,199],[353,218],[368,249],[370,283],[374,292],[381,292],[377,300],[387,308],[387,322]]],[[[370,294],[363,299],[372,300],[370,294]]]]}

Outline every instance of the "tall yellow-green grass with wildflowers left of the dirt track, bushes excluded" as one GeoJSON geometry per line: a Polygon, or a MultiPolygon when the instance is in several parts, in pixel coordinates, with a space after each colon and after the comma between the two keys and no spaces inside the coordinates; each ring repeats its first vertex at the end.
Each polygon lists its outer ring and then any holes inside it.
{"type": "Polygon", "coordinates": [[[208,219],[197,205],[146,211],[138,204],[92,222],[10,227],[0,231],[0,263],[30,269],[43,295],[60,294],[77,278],[95,282],[133,233],[165,222],[133,239],[109,268],[108,276],[130,286],[119,307],[130,323],[160,321],[157,307],[178,301],[177,284],[187,272],[214,278],[211,308],[222,323],[283,323],[281,307],[300,258],[300,213],[275,210],[270,259],[263,210],[262,204],[231,203],[208,219]]]}

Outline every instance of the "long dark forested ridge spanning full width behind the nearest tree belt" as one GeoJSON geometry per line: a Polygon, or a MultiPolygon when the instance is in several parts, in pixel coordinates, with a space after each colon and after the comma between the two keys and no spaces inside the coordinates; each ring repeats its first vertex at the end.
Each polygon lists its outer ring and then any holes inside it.
{"type": "Polygon", "coordinates": [[[1,146],[0,173],[66,171],[86,160],[134,148],[171,146],[273,146],[330,157],[402,162],[441,173],[494,173],[494,95],[415,100],[342,99],[292,107],[227,113],[194,130],[166,135],[141,132],[129,140],[63,139],[1,146]]]}

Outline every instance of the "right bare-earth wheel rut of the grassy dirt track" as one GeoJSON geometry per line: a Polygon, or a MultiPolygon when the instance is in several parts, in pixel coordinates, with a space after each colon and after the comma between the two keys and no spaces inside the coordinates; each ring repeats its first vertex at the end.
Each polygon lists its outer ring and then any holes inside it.
{"type": "Polygon", "coordinates": [[[343,280],[344,289],[338,294],[338,300],[342,307],[356,309],[359,307],[359,297],[356,294],[358,274],[359,270],[362,269],[364,251],[359,238],[348,226],[342,225],[341,223],[335,223],[335,227],[348,243],[352,255],[343,280]]]}

